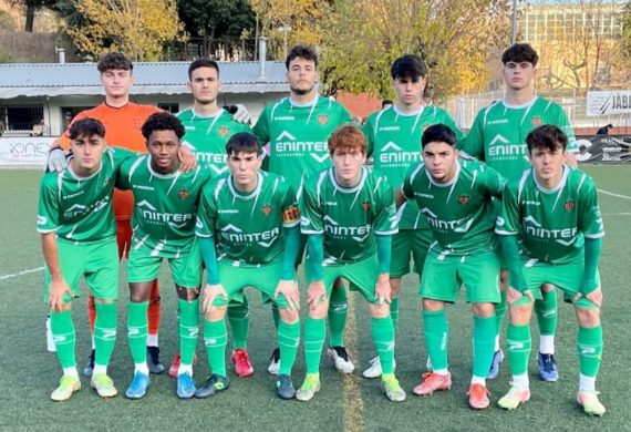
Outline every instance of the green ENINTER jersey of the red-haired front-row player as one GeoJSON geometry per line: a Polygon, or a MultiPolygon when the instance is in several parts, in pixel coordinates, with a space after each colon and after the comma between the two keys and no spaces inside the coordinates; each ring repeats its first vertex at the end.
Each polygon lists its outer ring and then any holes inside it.
{"type": "Polygon", "coordinates": [[[383,177],[361,169],[355,187],[340,186],[333,167],[311,176],[304,185],[300,230],[324,236],[323,266],[366,259],[376,253],[375,235],[399,230],[392,187],[383,177]]]}

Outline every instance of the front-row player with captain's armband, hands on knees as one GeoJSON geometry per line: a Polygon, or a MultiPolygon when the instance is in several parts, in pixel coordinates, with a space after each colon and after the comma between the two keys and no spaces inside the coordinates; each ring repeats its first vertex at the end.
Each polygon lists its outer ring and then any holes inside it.
{"type": "Polygon", "coordinates": [[[260,169],[258,140],[240,132],[226,144],[229,175],[209,183],[197,215],[197,236],[208,281],[204,289],[204,344],[211,376],[196,398],[226,390],[226,308],[242,301],[254,287],[273,298],[279,308],[280,371],[277,393],[293,399],[291,368],[300,340],[300,296],[293,264],[300,246],[300,222],[294,191],[285,179],[260,169]]]}

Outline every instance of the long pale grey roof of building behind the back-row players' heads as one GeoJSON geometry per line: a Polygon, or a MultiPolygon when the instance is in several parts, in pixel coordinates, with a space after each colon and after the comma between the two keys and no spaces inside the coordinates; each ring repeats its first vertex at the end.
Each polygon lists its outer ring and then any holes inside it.
{"type": "MultiPolygon", "coordinates": [[[[189,62],[134,63],[131,94],[187,94],[189,62]]],[[[282,62],[219,62],[223,93],[287,92],[282,62]]],[[[0,99],[103,94],[95,63],[0,64],[0,99]]]]}

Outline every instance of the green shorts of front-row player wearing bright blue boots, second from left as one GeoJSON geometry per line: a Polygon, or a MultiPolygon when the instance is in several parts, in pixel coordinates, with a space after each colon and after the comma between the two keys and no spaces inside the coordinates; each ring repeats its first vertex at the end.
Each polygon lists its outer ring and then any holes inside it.
{"type": "MultiPolygon", "coordinates": [[[[146,246],[133,247],[127,260],[127,280],[130,284],[148,282],[157,278],[159,266],[165,257],[154,256],[152,249],[146,246]]],[[[168,259],[168,266],[175,284],[183,288],[195,289],[201,285],[201,253],[197,237],[193,239],[193,246],[188,253],[180,254],[177,258],[168,259]]]]}

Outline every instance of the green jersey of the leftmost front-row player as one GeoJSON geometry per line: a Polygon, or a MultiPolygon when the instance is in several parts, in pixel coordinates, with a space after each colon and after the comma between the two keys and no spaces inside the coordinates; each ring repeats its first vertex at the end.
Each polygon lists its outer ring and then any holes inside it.
{"type": "Polygon", "coordinates": [[[66,241],[97,241],[116,234],[112,193],[118,169],[134,153],[107,147],[101,168],[81,177],[69,166],[61,173],[46,173],[40,183],[39,233],[56,232],[66,241]]]}

